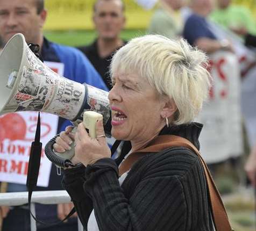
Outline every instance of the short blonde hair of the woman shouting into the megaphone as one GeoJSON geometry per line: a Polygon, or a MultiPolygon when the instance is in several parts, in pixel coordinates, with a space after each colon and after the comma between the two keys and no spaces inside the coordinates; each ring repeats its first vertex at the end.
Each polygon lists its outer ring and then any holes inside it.
{"type": "Polygon", "coordinates": [[[134,38],[113,56],[110,74],[138,74],[162,96],[173,99],[177,111],[170,121],[191,122],[208,98],[210,74],[207,56],[184,39],[170,40],[161,35],[134,38]]]}

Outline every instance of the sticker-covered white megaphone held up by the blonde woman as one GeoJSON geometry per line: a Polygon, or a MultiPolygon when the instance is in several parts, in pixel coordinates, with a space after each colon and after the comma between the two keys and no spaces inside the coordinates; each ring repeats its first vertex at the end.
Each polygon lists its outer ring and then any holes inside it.
{"type": "Polygon", "coordinates": [[[105,133],[111,135],[108,92],[56,74],[34,55],[23,34],[13,35],[5,45],[0,77],[0,115],[40,111],[77,122],[84,111],[95,111],[103,115],[105,133]]]}

